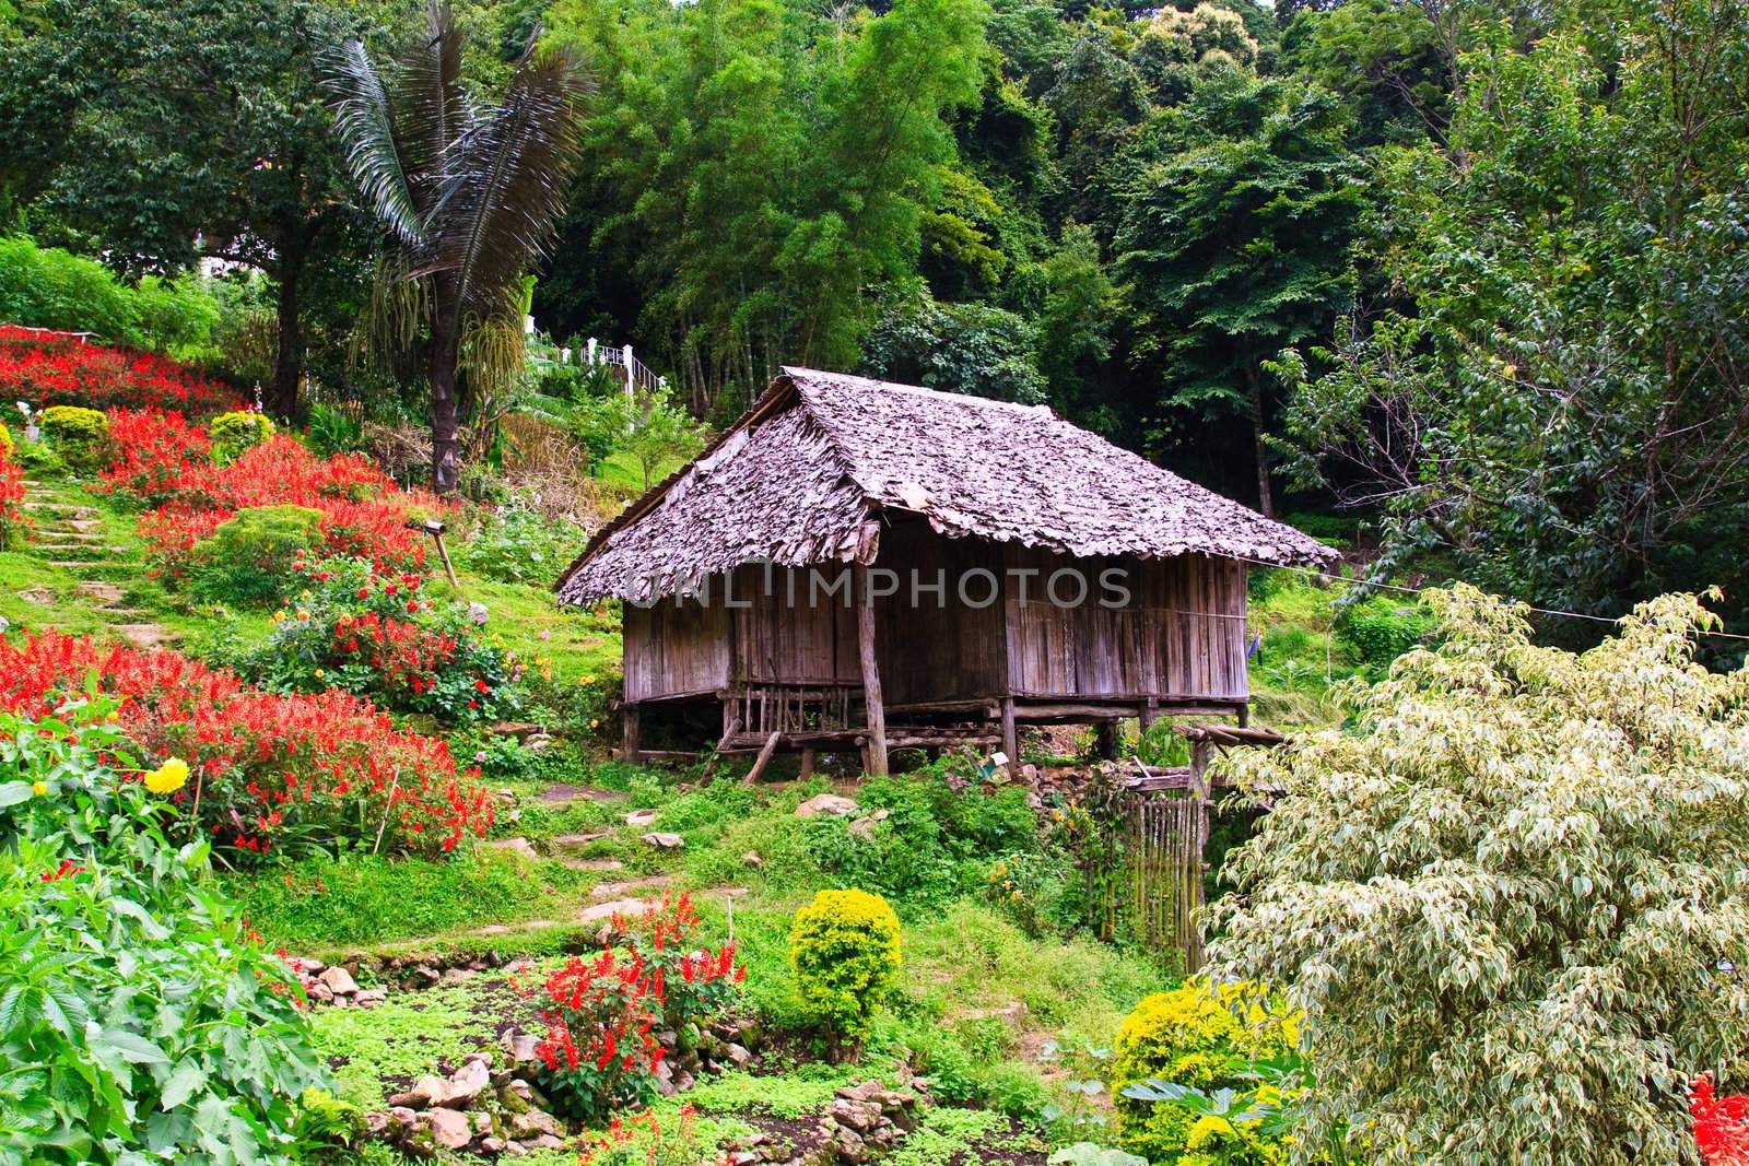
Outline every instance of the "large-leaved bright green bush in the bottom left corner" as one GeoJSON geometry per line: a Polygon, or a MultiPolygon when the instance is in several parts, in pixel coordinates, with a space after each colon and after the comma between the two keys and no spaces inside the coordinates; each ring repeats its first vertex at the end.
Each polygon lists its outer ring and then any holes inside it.
{"type": "Polygon", "coordinates": [[[187,769],[112,767],[114,708],[0,713],[0,1161],[282,1159],[325,1077],[301,988],[147,795],[187,769]]]}

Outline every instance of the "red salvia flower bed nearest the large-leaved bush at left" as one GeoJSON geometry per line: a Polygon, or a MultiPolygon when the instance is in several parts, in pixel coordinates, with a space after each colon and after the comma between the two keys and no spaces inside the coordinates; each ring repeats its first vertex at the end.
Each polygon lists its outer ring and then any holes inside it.
{"type": "Polygon", "coordinates": [[[189,762],[196,778],[173,799],[220,848],[262,855],[381,830],[385,850],[442,853],[491,825],[479,771],[458,776],[444,741],[395,729],[348,692],[262,692],[166,649],[56,631],[0,640],[0,710],[44,717],[93,673],[126,698],[138,760],[189,762]]]}

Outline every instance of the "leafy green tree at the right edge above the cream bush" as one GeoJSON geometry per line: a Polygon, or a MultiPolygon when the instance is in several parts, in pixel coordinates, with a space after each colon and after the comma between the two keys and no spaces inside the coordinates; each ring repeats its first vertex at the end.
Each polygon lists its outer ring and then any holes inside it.
{"type": "Polygon", "coordinates": [[[1733,577],[1749,531],[1749,10],[1565,12],[1478,26],[1450,149],[1380,161],[1394,306],[1282,371],[1301,477],[1383,500],[1382,577],[1439,556],[1613,617],[1733,577]]]}

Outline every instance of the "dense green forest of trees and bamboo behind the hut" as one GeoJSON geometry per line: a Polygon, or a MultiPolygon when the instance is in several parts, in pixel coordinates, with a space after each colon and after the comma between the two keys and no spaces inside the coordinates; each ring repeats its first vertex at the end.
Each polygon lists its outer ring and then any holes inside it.
{"type": "MultiPolygon", "coordinates": [[[[304,372],[418,392],[353,358],[380,234],[327,93],[341,40],[388,45],[416,12],[0,14],[16,233],[126,278],[257,266],[278,413],[304,372]]],[[[511,0],[458,19],[476,93],[537,38],[584,63],[533,316],[572,346],[635,343],[703,421],[785,362],[864,371],[1048,404],[1270,512],[1357,514],[1387,573],[1607,615],[1740,573],[1742,3],[511,0]]]]}

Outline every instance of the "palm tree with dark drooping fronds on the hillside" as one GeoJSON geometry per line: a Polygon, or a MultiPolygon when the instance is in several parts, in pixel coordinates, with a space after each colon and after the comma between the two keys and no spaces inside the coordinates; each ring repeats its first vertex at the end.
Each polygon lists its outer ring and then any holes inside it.
{"type": "Polygon", "coordinates": [[[425,19],[383,72],[346,42],[327,86],[346,166],[387,239],[364,334],[376,355],[427,367],[432,488],[448,493],[462,406],[521,371],[523,276],[577,168],[588,80],[574,56],[530,42],[502,100],[476,101],[448,2],[430,0],[425,19]]]}

